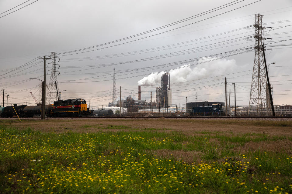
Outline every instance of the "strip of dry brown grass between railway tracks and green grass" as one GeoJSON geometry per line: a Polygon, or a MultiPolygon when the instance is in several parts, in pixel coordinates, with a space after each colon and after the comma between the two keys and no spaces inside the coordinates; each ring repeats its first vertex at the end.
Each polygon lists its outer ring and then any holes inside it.
{"type": "Polygon", "coordinates": [[[17,120],[0,120],[1,125],[11,125],[19,129],[31,127],[43,132],[95,132],[98,130],[130,130],[130,129],[166,129],[165,131],[178,131],[187,135],[196,132],[232,132],[265,133],[269,135],[292,136],[292,121],[258,121],[238,119],[27,119],[23,122],[17,120]],[[284,123],[284,124],[283,124],[284,123]],[[87,125],[88,127],[84,127],[87,125]],[[286,126],[281,126],[286,125],[286,126]],[[110,129],[105,129],[107,126],[110,129]],[[119,128],[115,126],[125,126],[119,128]]]}

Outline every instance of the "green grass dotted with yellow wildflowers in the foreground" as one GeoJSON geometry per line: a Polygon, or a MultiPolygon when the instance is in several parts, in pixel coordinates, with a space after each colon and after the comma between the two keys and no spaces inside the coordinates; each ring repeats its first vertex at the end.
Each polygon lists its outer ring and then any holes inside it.
{"type": "Polygon", "coordinates": [[[98,127],[105,130],[43,133],[0,126],[0,193],[292,193],[289,150],[235,149],[287,137],[98,127]],[[163,150],[197,151],[190,157],[201,162],[161,157],[163,150]]]}

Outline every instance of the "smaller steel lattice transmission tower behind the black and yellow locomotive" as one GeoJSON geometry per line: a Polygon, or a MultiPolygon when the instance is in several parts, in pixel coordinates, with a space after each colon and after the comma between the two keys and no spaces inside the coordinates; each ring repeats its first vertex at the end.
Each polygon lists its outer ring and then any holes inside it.
{"type": "Polygon", "coordinates": [[[58,95],[58,91],[59,91],[59,87],[58,87],[58,81],[57,81],[57,73],[58,75],[60,74],[59,71],[56,70],[56,65],[58,65],[58,69],[60,68],[60,65],[56,63],[56,58],[59,59],[60,58],[56,56],[57,53],[55,52],[51,52],[51,58],[52,58],[52,62],[50,62],[49,64],[51,64],[52,69],[49,70],[51,72],[51,78],[50,78],[50,82],[48,85],[48,92],[47,92],[47,99],[46,102],[48,104],[52,104],[54,103],[55,100],[59,100],[59,95],[58,95]]]}

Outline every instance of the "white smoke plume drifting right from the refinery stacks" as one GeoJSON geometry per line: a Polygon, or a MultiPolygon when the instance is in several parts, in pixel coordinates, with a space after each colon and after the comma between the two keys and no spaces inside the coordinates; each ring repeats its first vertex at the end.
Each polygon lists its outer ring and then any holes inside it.
{"type": "MultiPolygon", "coordinates": [[[[217,59],[216,58],[204,58],[200,59],[198,63],[203,63],[201,67],[192,68],[190,64],[182,65],[179,68],[169,70],[170,84],[176,82],[185,82],[194,79],[202,79],[217,75],[224,75],[227,71],[230,71],[236,67],[234,59],[217,59]]],[[[165,72],[154,72],[138,81],[138,85],[141,86],[155,86],[156,83],[160,85],[160,78],[165,72]]]]}

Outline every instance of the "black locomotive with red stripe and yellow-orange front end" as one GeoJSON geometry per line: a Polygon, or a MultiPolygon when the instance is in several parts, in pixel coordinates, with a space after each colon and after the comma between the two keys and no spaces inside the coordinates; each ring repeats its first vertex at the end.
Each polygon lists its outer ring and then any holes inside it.
{"type": "Polygon", "coordinates": [[[51,111],[52,117],[86,116],[89,115],[89,107],[84,99],[67,99],[54,101],[51,111]]]}

